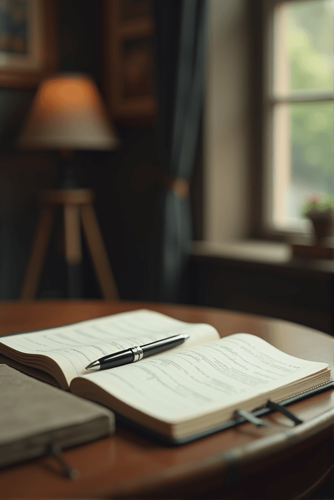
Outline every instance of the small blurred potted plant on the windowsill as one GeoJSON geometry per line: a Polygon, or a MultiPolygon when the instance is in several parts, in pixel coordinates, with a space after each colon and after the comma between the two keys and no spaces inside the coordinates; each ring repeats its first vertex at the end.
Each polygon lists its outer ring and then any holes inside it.
{"type": "Polygon", "coordinates": [[[333,202],[313,200],[307,204],[303,210],[304,217],[311,220],[317,244],[322,244],[324,238],[333,235],[334,229],[334,209],[333,202]]]}

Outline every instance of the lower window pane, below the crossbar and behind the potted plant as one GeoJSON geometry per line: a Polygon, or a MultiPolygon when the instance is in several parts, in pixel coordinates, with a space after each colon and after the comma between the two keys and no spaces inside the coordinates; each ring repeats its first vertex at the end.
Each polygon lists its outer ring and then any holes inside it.
{"type": "Polygon", "coordinates": [[[275,225],[305,228],[301,210],[333,198],[333,102],[278,104],[274,113],[275,225]]]}

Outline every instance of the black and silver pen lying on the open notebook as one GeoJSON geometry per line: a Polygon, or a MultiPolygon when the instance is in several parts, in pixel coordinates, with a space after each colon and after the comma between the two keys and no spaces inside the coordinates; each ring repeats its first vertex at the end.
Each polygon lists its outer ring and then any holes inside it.
{"type": "Polygon", "coordinates": [[[135,361],[139,361],[142,357],[176,347],[183,343],[188,337],[189,335],[187,333],[173,335],[172,337],[163,338],[162,340],[157,340],[149,344],[137,345],[135,347],[120,350],[96,359],[96,361],[86,366],[86,370],[106,370],[108,368],[122,366],[123,364],[134,363],[135,361]]]}

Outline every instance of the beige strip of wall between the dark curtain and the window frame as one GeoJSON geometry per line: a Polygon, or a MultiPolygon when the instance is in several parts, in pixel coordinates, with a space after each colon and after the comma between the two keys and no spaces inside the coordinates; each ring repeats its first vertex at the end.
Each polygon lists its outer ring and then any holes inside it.
{"type": "Polygon", "coordinates": [[[246,0],[210,2],[204,128],[204,239],[243,237],[249,204],[246,0]]]}

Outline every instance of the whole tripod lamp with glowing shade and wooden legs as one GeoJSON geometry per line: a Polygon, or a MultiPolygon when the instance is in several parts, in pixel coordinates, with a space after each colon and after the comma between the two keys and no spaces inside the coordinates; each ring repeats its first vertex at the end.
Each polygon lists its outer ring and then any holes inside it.
{"type": "Polygon", "coordinates": [[[21,298],[32,299],[35,295],[56,204],[64,207],[69,297],[81,296],[81,218],[102,295],[104,298],[117,298],[92,205],[93,191],[77,188],[70,160],[74,149],[110,150],[119,144],[93,79],[84,74],[63,73],[43,80],[34,95],[17,144],[24,149],[58,150],[62,157],[60,189],[42,193],[43,209],[32,243],[21,298]]]}

